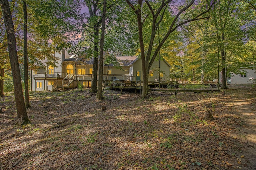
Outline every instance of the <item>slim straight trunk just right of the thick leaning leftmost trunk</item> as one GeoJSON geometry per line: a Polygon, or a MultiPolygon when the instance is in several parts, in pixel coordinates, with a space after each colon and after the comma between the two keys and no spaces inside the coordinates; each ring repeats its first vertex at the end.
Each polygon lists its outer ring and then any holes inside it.
{"type": "Polygon", "coordinates": [[[24,23],[23,23],[23,32],[24,32],[24,86],[25,86],[25,105],[30,107],[29,104],[29,95],[28,95],[28,37],[27,37],[27,4],[23,0],[23,12],[24,12],[24,23]]]}

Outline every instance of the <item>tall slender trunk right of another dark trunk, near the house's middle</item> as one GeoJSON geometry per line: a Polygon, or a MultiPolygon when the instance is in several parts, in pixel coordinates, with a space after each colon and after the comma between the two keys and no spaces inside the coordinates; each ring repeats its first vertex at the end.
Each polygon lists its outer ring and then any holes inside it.
{"type": "Polygon", "coordinates": [[[101,39],[100,39],[100,63],[99,63],[99,82],[97,99],[103,100],[102,96],[102,82],[103,82],[103,61],[104,61],[104,38],[105,38],[105,18],[106,18],[106,0],[103,2],[103,14],[102,14],[102,27],[101,27],[101,39]]]}

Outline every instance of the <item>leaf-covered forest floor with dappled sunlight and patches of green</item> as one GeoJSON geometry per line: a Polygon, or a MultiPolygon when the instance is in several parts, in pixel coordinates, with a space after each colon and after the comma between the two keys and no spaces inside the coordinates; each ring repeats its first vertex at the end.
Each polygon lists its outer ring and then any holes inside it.
{"type": "Polygon", "coordinates": [[[0,169],[256,169],[256,86],[222,93],[30,92],[32,121],[0,97],[0,169]],[[102,106],[106,110],[102,111],[102,106]],[[212,121],[203,120],[212,112],[212,121]]]}

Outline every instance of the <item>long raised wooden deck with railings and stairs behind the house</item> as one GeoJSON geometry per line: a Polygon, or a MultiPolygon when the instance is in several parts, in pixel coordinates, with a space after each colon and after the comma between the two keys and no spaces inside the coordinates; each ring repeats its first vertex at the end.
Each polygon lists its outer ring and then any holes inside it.
{"type": "MultiPolygon", "coordinates": [[[[72,82],[78,81],[78,82],[89,82],[92,81],[92,74],[84,74],[84,75],[74,75],[74,74],[67,74],[63,72],[52,72],[51,74],[47,72],[38,72],[37,74],[34,74],[35,80],[48,80],[48,81],[54,81],[53,91],[58,88],[74,88],[72,82]],[[58,83],[61,82],[61,83],[58,83]],[[62,84],[60,86],[60,84],[62,84]]],[[[140,90],[142,91],[143,82],[141,80],[136,81],[135,76],[126,76],[123,74],[110,74],[110,75],[103,75],[103,82],[106,82],[106,85],[110,88],[116,90],[120,90],[122,92],[122,89],[134,89],[135,91],[140,90]],[[117,80],[118,83],[114,83],[114,81],[117,80]]],[[[98,76],[97,76],[98,80],[98,76]]],[[[183,81],[182,81],[183,82],[183,81]]],[[[158,89],[156,87],[159,86],[159,82],[156,81],[149,81],[148,87],[152,91],[166,91],[166,92],[174,92],[175,95],[178,92],[220,92],[220,90],[193,90],[193,89],[176,89],[179,86],[186,86],[186,85],[202,85],[202,84],[189,84],[189,83],[182,83],[180,81],[160,81],[160,87],[161,89],[158,89]],[[166,89],[166,87],[172,87],[173,89],[166,89]]],[[[209,85],[210,87],[217,88],[218,84],[206,82],[203,85],[209,85]]]]}

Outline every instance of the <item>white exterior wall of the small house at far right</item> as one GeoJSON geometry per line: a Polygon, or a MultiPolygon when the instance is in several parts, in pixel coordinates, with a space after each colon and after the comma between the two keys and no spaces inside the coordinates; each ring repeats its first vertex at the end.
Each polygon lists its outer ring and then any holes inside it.
{"type": "Polygon", "coordinates": [[[231,76],[231,84],[255,84],[256,73],[255,70],[245,69],[246,77],[241,77],[241,74],[232,74],[231,76]],[[250,80],[254,79],[253,81],[250,80]]]}

